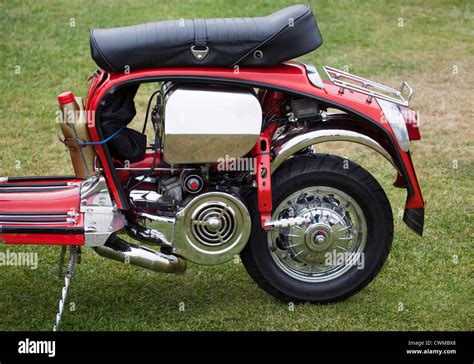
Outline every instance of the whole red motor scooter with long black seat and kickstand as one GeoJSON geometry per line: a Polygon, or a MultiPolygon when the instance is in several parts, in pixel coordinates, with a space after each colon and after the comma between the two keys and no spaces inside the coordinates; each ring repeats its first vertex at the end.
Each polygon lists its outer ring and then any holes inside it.
{"type": "Polygon", "coordinates": [[[261,288],[293,302],[361,290],[390,250],[391,207],[371,174],[316,153],[319,143],[358,143],[387,159],[407,190],[403,219],[422,234],[412,90],[331,67],[323,81],[288,61],[322,43],[308,6],[94,29],[90,42],[101,69],[85,102],[59,95],[75,176],[0,180],[3,242],[71,247],[57,325],[83,246],[166,273],[240,254],[261,288]],[[140,132],[127,125],[144,83],[156,92],[140,132]]]}

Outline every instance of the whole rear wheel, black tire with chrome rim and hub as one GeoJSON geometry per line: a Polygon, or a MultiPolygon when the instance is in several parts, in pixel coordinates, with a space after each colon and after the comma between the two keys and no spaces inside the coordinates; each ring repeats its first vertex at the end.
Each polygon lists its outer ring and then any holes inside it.
{"type": "Polygon", "coordinates": [[[393,218],[369,172],[334,155],[297,156],[275,172],[272,191],[274,220],[307,223],[265,232],[251,199],[253,231],[241,257],[260,287],[286,301],[327,303],[372,281],[390,250],[393,218]]]}

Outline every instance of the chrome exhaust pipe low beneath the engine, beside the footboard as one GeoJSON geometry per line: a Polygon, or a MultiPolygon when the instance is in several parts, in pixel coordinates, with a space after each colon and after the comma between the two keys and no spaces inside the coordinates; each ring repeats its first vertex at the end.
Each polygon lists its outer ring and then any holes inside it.
{"type": "Polygon", "coordinates": [[[176,255],[167,255],[143,246],[131,244],[118,237],[110,239],[105,245],[95,247],[97,254],[104,258],[125,264],[136,265],[161,273],[183,273],[186,260],[176,255]]]}

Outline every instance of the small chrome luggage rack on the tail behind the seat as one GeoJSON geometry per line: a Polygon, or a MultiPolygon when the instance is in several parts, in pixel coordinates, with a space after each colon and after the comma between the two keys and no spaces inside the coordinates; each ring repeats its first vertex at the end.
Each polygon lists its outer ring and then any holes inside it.
{"type": "Polygon", "coordinates": [[[363,93],[368,95],[367,102],[371,102],[372,98],[375,97],[398,105],[408,106],[413,95],[413,89],[406,81],[403,81],[400,89],[396,90],[333,67],[324,66],[323,69],[329,80],[340,87],[339,92],[343,93],[344,89],[348,89],[363,93]]]}

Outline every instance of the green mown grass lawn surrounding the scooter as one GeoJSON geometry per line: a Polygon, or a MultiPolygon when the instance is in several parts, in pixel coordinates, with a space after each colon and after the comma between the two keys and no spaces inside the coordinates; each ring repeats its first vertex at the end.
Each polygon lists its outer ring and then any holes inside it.
{"type": "MultiPolygon", "coordinates": [[[[90,28],[264,15],[292,3],[3,0],[0,176],[72,172],[68,153],[56,138],[56,95],[67,89],[85,95],[86,79],[96,68],[89,56],[90,28]],[[71,18],[75,27],[69,26],[71,18]],[[17,65],[20,74],[15,74],[17,65]]],[[[474,6],[467,0],[311,3],[324,44],[304,61],[348,66],[392,86],[407,79],[415,89],[413,106],[421,111],[423,139],[413,144],[413,154],[427,202],[425,236],[415,236],[401,221],[405,191],[391,187],[388,163],[364,149],[328,145],[325,151],[346,155],[373,172],[392,202],[393,248],[379,276],[362,292],[342,303],[297,305],[292,311],[260,290],[238,262],[190,264],[184,275],[160,275],[86,250],[69,295],[75,310],[65,313],[63,329],[474,328],[474,6]]],[[[142,93],[139,107],[145,99],[142,93]]],[[[37,270],[0,266],[0,330],[50,330],[62,285],[55,276],[59,248],[0,247],[7,249],[38,252],[40,264],[37,270]]]]}

